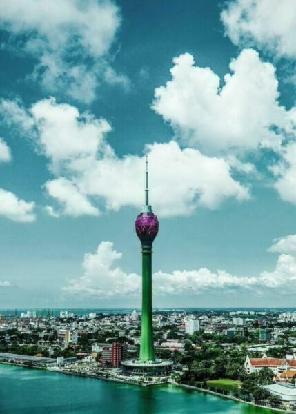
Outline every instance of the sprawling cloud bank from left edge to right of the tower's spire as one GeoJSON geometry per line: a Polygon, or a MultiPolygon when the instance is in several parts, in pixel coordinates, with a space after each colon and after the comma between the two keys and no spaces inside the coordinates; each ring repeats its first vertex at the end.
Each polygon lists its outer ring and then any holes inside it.
{"type": "MultiPolygon", "coordinates": [[[[81,113],[54,98],[38,101],[26,112],[22,107],[18,112],[8,103],[6,107],[12,108],[10,121],[15,113],[24,115],[19,125],[32,125],[26,134],[50,161],[54,177],[45,188],[61,209],[47,207],[48,214],[77,217],[98,215],[102,208],[141,207],[144,157],[117,157],[106,139],[111,130],[106,119],[81,113]]],[[[9,110],[6,117],[8,114],[9,110]]],[[[175,141],[149,144],[145,151],[152,166],[153,206],[160,216],[190,215],[197,206],[217,208],[230,197],[238,201],[250,198],[248,188],[232,177],[230,164],[241,169],[234,159],[228,163],[194,148],[181,148],[175,141]]]]}

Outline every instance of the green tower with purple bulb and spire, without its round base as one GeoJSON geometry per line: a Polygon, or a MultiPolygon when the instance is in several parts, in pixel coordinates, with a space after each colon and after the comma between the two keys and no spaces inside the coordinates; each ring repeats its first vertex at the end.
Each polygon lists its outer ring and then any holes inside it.
{"type": "Polygon", "coordinates": [[[157,236],[159,223],[149,204],[148,159],[146,156],[145,206],[135,222],[136,233],[141,240],[142,253],[142,319],[141,348],[142,362],[155,361],[152,327],[152,243],[157,236]]]}

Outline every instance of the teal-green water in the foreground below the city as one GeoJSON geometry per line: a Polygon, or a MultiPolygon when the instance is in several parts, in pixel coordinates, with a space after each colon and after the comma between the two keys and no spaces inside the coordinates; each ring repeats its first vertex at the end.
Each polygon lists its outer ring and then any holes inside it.
{"type": "Polygon", "coordinates": [[[177,386],[140,387],[0,365],[1,414],[271,414],[177,386]]]}

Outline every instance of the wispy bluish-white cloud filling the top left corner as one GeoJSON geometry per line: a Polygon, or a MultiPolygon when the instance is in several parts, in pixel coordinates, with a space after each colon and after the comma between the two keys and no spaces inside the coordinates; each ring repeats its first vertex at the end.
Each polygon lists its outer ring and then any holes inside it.
{"type": "Polygon", "coordinates": [[[10,43],[37,59],[32,80],[47,92],[63,91],[85,103],[95,99],[99,79],[110,69],[108,52],[121,24],[115,3],[0,0],[0,21],[10,43]]]}

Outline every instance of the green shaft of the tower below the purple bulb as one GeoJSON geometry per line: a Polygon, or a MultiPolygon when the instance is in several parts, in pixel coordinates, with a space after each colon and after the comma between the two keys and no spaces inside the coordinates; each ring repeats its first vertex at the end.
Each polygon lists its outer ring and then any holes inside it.
{"type": "Polygon", "coordinates": [[[152,246],[142,246],[142,318],[140,359],[154,361],[152,328],[152,246]]]}

